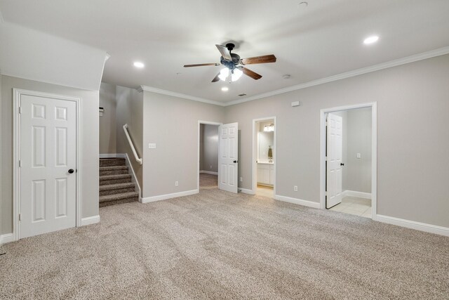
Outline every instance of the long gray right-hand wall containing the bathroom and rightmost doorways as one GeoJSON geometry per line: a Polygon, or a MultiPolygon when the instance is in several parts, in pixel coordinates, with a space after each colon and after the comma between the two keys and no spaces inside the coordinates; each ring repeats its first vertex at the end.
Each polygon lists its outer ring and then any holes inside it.
{"type": "Polygon", "coordinates": [[[320,109],[377,101],[377,213],[449,227],[448,70],[438,56],[225,107],[225,122],[239,122],[241,187],[251,188],[252,119],[275,115],[276,193],[319,202],[320,109]]]}

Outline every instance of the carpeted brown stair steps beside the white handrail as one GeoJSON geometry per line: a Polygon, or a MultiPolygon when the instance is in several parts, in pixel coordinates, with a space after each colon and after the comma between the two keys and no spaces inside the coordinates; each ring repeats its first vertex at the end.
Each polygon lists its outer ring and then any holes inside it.
{"type": "Polygon", "coordinates": [[[100,158],[100,207],[139,201],[124,158],[100,158]]]}

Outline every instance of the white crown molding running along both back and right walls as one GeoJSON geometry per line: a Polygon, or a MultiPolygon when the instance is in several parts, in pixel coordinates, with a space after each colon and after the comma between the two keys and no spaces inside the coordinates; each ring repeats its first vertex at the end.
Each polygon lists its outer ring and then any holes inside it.
{"type": "Polygon", "coordinates": [[[406,56],[405,58],[398,58],[396,60],[390,60],[390,61],[388,61],[386,63],[380,63],[380,64],[372,65],[372,66],[369,66],[369,67],[362,67],[360,69],[352,70],[352,71],[349,71],[349,72],[344,72],[344,73],[340,73],[340,74],[335,74],[333,76],[324,77],[324,78],[321,78],[321,79],[316,79],[316,80],[304,82],[303,84],[297,84],[295,86],[288,86],[286,88],[278,89],[278,90],[275,90],[275,91],[269,91],[267,93],[260,93],[259,95],[250,96],[248,98],[240,98],[240,99],[232,100],[232,101],[229,101],[229,102],[218,102],[218,101],[210,100],[210,99],[206,99],[206,98],[199,98],[199,97],[196,97],[196,96],[190,96],[190,95],[187,95],[187,94],[184,94],[184,93],[176,93],[176,92],[173,92],[173,91],[157,89],[157,88],[154,88],[152,86],[140,86],[140,89],[138,89],[138,91],[140,91],[140,92],[142,92],[142,91],[150,91],[150,92],[153,92],[153,93],[161,93],[163,95],[174,96],[174,97],[178,97],[178,98],[183,98],[183,99],[187,99],[187,100],[194,100],[194,101],[199,101],[199,102],[213,104],[213,105],[218,105],[218,106],[230,106],[230,105],[236,105],[236,104],[245,103],[245,102],[248,102],[248,101],[257,100],[257,99],[267,98],[267,97],[270,97],[270,96],[276,96],[276,95],[279,95],[281,93],[289,93],[290,91],[297,91],[297,90],[300,90],[300,89],[307,89],[307,88],[309,88],[311,86],[318,86],[320,84],[327,84],[328,82],[337,81],[337,80],[341,80],[341,79],[346,79],[346,78],[350,78],[350,77],[355,77],[355,76],[367,74],[367,73],[370,73],[370,72],[376,72],[376,71],[388,69],[389,67],[397,67],[399,65],[406,65],[408,63],[415,63],[415,62],[417,62],[419,60],[425,60],[427,58],[434,58],[436,56],[444,56],[445,54],[448,54],[448,53],[449,53],[449,46],[443,47],[443,48],[438,48],[438,49],[427,51],[427,52],[423,52],[423,53],[418,53],[418,54],[415,54],[413,56],[406,56]]]}

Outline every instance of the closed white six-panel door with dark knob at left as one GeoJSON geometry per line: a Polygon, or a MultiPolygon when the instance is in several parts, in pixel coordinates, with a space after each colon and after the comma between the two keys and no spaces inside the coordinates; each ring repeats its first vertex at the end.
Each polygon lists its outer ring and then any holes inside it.
{"type": "Polygon", "coordinates": [[[20,237],[76,226],[76,103],[20,97],[20,237]]]}

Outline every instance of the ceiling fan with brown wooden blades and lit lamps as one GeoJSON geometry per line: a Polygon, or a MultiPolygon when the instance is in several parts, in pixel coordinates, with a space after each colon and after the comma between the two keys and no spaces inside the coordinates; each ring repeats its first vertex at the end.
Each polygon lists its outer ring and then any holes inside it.
{"type": "Polygon", "coordinates": [[[196,65],[184,65],[184,67],[203,67],[206,65],[224,65],[225,68],[220,70],[220,73],[212,79],[212,82],[217,82],[220,79],[226,81],[231,75],[231,81],[237,81],[241,77],[242,74],[245,74],[248,77],[251,77],[255,80],[262,78],[262,75],[257,74],[249,70],[243,65],[254,65],[256,63],[275,63],[276,56],[270,54],[268,56],[255,56],[253,58],[240,58],[240,56],[236,53],[231,53],[232,49],[234,49],[235,45],[232,43],[226,44],[226,46],[215,45],[217,46],[218,51],[222,54],[220,57],[220,63],[200,63],[196,65]]]}

